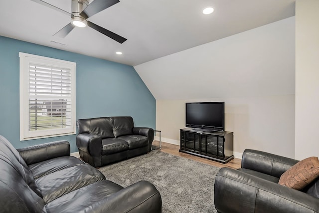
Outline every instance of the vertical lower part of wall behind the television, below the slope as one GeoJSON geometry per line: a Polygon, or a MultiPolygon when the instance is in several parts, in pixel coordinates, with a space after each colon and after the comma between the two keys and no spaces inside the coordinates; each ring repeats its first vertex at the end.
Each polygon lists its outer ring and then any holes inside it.
{"type": "Polygon", "coordinates": [[[162,141],[179,145],[185,127],[185,103],[225,101],[225,129],[234,132],[234,155],[247,148],[294,158],[295,95],[158,100],[156,128],[162,141]]]}

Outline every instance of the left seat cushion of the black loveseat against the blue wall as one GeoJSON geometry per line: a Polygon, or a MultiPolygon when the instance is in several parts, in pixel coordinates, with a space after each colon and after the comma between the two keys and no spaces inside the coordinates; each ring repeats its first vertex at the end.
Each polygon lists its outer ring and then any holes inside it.
{"type": "Polygon", "coordinates": [[[129,150],[126,141],[118,138],[106,138],[102,140],[102,155],[109,155],[129,150]]]}

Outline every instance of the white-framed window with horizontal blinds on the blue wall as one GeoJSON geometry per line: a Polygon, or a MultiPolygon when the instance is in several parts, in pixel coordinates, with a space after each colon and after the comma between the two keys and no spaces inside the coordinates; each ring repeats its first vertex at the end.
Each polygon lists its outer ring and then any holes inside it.
{"type": "Polygon", "coordinates": [[[75,134],[76,63],[19,52],[20,140],[75,134]]]}

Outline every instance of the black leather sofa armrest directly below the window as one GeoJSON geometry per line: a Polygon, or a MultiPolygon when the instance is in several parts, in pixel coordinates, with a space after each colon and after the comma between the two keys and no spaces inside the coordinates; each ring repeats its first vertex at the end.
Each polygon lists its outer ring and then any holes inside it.
{"type": "Polygon", "coordinates": [[[54,141],[35,146],[17,149],[27,165],[46,161],[52,158],[70,156],[68,141],[54,141]]]}

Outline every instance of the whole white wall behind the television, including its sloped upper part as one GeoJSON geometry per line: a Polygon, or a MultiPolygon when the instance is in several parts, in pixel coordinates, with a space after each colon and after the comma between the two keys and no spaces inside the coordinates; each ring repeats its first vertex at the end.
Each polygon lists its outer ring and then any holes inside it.
{"type": "Polygon", "coordinates": [[[295,156],[295,17],[135,69],[157,99],[163,141],[178,144],[185,102],[225,101],[235,157],[246,148],[295,156]]]}

